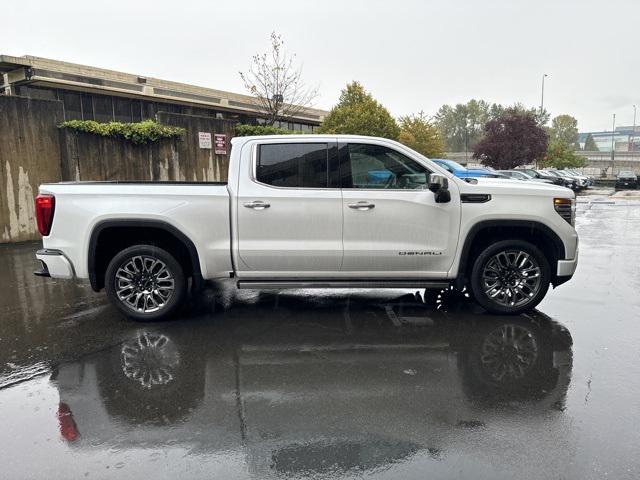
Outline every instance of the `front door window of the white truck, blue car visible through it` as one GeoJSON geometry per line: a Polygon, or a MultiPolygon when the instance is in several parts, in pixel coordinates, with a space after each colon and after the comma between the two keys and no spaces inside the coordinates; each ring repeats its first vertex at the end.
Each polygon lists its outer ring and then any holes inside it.
{"type": "MultiPolygon", "coordinates": [[[[351,188],[425,188],[429,172],[409,157],[380,145],[349,144],[344,187],[351,188]]],[[[343,177],[344,178],[344,177],[343,177]]]]}

